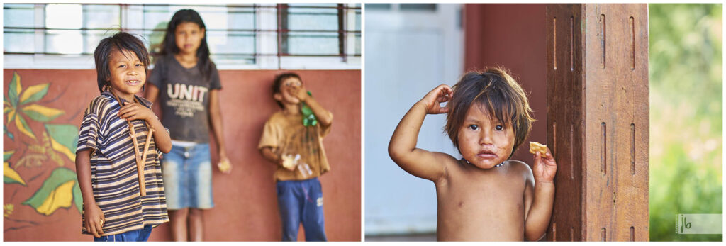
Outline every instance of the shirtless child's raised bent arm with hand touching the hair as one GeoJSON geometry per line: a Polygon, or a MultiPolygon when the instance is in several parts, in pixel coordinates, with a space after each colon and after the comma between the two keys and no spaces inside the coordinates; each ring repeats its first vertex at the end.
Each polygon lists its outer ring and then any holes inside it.
{"type": "Polygon", "coordinates": [[[441,152],[418,149],[416,142],[426,114],[449,112],[449,107],[441,107],[440,103],[449,101],[452,94],[451,87],[445,84],[436,86],[411,107],[401,119],[396,131],[393,131],[391,142],[388,144],[388,155],[393,162],[413,176],[436,182],[446,173],[443,164],[446,159],[452,157],[441,152]]]}

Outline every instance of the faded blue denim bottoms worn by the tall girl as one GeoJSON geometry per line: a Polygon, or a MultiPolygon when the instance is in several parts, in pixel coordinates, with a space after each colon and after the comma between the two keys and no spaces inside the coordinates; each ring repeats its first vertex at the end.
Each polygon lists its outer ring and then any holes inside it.
{"type": "Polygon", "coordinates": [[[214,207],[209,144],[173,145],[161,163],[168,209],[214,207]]]}

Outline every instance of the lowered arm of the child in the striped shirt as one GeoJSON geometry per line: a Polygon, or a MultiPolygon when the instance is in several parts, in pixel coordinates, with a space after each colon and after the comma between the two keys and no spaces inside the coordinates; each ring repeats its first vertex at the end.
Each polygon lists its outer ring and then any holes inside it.
{"type": "Polygon", "coordinates": [[[106,218],[101,208],[96,205],[96,199],[93,197],[93,186],[91,186],[91,150],[81,150],[76,152],[76,176],[78,176],[78,188],[81,189],[81,197],[83,197],[83,210],[85,210],[86,220],[83,225],[86,230],[93,234],[94,237],[101,237],[103,234],[103,223],[106,218]]]}

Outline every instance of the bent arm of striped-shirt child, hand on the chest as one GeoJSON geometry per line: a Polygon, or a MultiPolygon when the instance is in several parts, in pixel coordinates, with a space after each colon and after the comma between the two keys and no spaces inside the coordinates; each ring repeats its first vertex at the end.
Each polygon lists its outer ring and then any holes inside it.
{"type": "Polygon", "coordinates": [[[150,108],[144,107],[136,102],[124,102],[121,110],[118,110],[118,117],[124,120],[146,120],[149,127],[154,129],[154,142],[161,152],[168,153],[171,151],[171,137],[161,124],[159,118],[156,118],[154,112],[150,108]]]}

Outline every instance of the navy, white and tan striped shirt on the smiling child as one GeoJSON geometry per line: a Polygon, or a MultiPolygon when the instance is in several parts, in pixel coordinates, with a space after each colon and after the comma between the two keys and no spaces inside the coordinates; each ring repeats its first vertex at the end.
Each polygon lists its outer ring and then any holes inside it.
{"type": "MultiPolygon", "coordinates": [[[[145,107],[151,107],[147,99],[136,97],[136,100],[145,107]]],[[[141,197],[131,131],[126,120],[118,117],[118,110],[121,107],[109,91],[94,98],[83,114],[76,150],[91,150],[91,186],[96,204],[106,218],[102,236],[169,221],[155,141],[152,138],[147,150],[144,165],[146,196],[141,197]]],[[[144,120],[133,120],[132,123],[136,134],[143,133],[136,137],[139,153],[142,153],[149,129],[144,120]]],[[[85,214],[82,214],[82,219],[85,220],[85,214]]],[[[83,221],[81,233],[89,234],[83,221]]]]}

